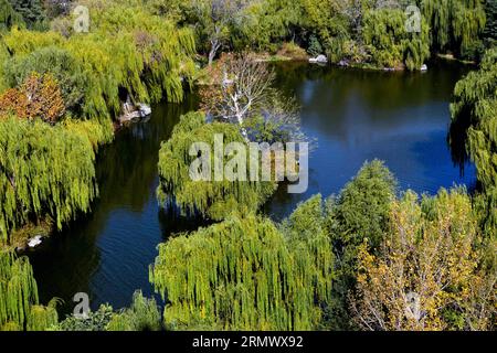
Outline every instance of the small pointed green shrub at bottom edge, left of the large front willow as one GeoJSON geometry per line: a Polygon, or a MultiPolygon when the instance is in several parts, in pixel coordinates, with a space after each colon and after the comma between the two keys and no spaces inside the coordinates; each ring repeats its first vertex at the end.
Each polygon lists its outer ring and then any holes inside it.
{"type": "Polygon", "coordinates": [[[107,331],[159,331],[160,312],[155,299],[147,299],[141,291],[133,295],[133,304],[113,315],[107,331]]]}

